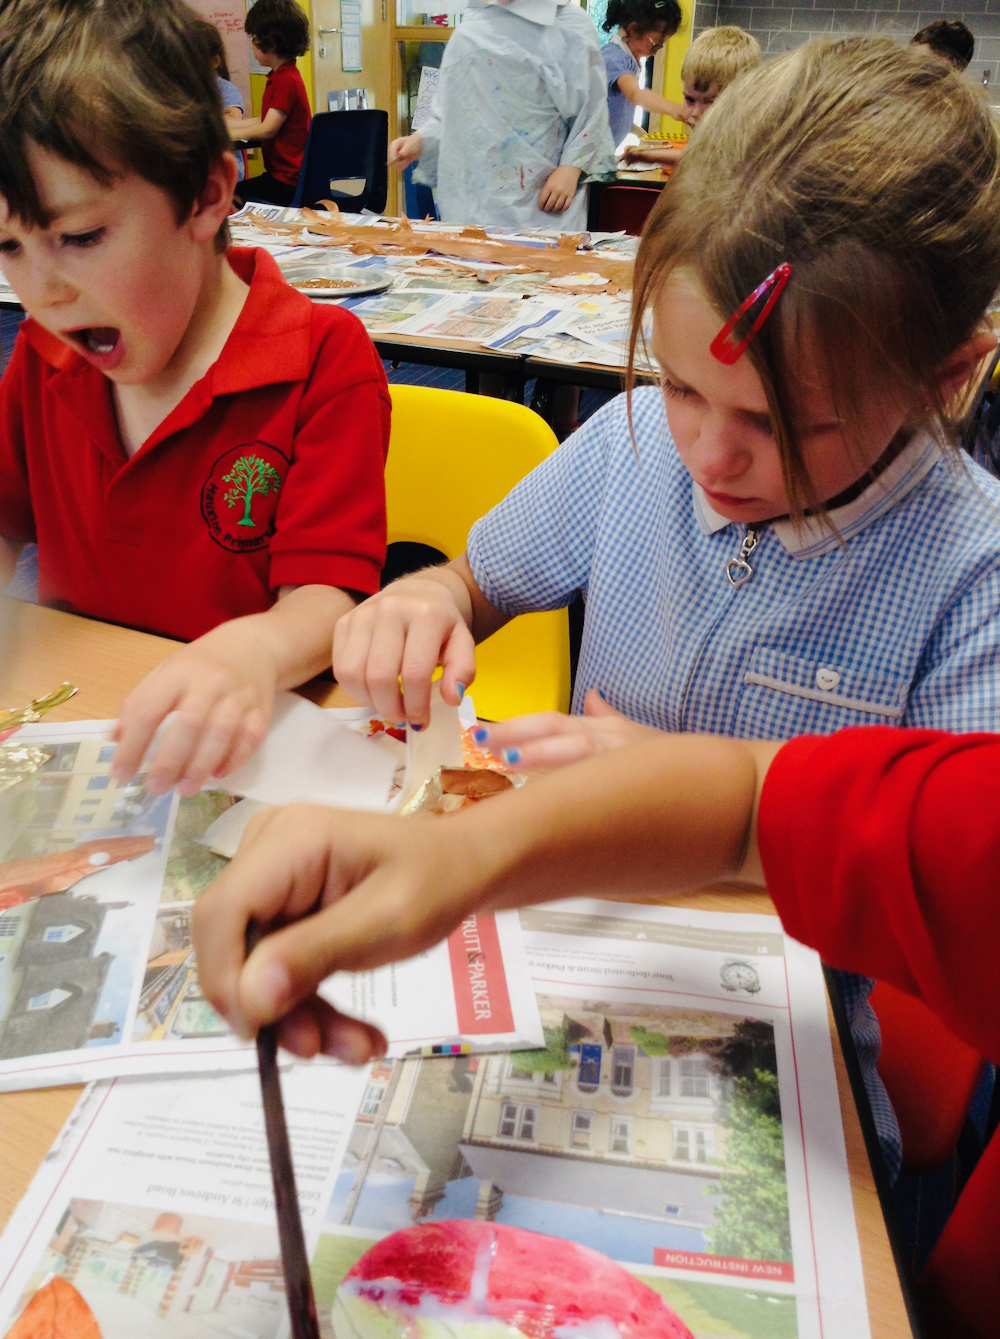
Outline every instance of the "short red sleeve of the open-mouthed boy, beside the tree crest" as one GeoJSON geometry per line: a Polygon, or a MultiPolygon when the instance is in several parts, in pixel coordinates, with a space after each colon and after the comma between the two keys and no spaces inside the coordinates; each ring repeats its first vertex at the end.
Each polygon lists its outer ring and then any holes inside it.
{"type": "Polygon", "coordinates": [[[270,585],[373,595],[386,562],[386,372],[368,332],[339,307],[313,304],[311,360],[274,517],[270,585]]]}

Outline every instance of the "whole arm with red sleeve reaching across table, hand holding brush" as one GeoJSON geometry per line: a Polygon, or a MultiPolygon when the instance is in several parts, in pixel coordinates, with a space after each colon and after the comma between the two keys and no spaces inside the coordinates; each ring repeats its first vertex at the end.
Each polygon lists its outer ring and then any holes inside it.
{"type": "Polygon", "coordinates": [[[791,933],[1000,1056],[997,814],[1000,736],[890,728],[667,735],[444,823],[292,806],[256,819],[198,902],[201,981],[246,1035],[295,1008],[286,1044],[313,1054],[341,1027],[313,994],[324,976],[411,956],[470,911],[766,873],[791,933]],[[250,917],[280,928],[245,961],[250,917]]]}

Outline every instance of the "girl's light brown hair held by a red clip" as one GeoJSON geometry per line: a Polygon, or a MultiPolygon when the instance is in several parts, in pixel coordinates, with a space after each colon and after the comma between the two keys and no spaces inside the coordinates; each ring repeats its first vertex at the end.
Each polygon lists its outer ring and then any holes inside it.
{"type": "Polygon", "coordinates": [[[953,443],[956,396],[936,374],[1000,288],[999,217],[1000,139],[976,88],[889,39],[810,42],[722,95],[661,193],[636,260],[631,362],[673,269],[696,274],[722,328],[790,262],[744,356],[767,395],[793,517],[822,516],[794,427],[801,360],[826,380],[849,437],[874,394],[908,430],[953,443]]]}

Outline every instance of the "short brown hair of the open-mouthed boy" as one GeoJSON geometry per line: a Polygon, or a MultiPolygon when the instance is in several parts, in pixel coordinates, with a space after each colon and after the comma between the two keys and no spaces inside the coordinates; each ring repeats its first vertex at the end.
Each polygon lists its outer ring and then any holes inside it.
{"type": "Polygon", "coordinates": [[[134,171],[170,195],[178,224],[189,217],[232,151],[199,23],[182,0],[0,4],[0,195],[16,218],[51,221],[32,143],[104,186],[134,171]]]}

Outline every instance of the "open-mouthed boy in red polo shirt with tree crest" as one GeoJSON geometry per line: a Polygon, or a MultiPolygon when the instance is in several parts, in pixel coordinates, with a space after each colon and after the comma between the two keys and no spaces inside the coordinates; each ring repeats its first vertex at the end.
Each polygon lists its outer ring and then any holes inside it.
{"type": "Polygon", "coordinates": [[[13,0],[0,268],[0,557],[47,604],[191,644],[126,700],[114,774],[190,794],[379,586],[390,400],[360,323],[226,252],[236,159],[182,0],[13,0]]]}

